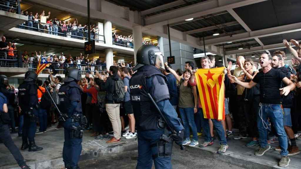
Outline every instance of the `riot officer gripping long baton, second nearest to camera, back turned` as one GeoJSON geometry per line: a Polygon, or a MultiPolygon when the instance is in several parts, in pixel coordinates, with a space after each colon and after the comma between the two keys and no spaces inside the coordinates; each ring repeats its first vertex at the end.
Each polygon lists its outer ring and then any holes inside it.
{"type": "Polygon", "coordinates": [[[67,169],[79,169],[77,163],[82,152],[82,135],[86,119],[82,115],[81,89],[77,84],[80,79],[79,69],[68,68],[64,84],[58,91],[59,107],[65,119],[63,160],[67,169]]]}

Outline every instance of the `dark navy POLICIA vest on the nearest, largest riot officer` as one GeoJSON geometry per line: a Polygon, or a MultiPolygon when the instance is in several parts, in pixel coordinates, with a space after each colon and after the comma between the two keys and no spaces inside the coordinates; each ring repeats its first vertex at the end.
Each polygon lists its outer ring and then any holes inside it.
{"type": "Polygon", "coordinates": [[[151,91],[147,89],[146,78],[151,78],[154,75],[160,75],[166,81],[166,77],[159,69],[154,66],[152,67],[152,69],[147,69],[147,71],[136,72],[129,82],[130,97],[137,131],[158,129],[157,121],[160,117],[160,113],[157,111],[156,107],[147,95],[148,93],[151,93],[151,91]]]}

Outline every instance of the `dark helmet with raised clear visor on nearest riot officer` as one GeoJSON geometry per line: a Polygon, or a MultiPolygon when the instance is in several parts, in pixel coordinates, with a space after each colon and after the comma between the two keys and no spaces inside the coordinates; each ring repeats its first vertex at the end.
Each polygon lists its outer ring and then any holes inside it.
{"type": "Polygon", "coordinates": [[[163,55],[160,49],[154,45],[143,45],[137,51],[137,63],[133,71],[141,68],[144,65],[156,66],[159,69],[164,68],[163,55]]]}

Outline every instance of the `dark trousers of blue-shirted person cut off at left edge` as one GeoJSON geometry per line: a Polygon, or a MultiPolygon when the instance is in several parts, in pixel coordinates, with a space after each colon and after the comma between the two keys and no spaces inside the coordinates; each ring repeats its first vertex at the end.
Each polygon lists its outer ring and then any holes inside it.
{"type": "Polygon", "coordinates": [[[11,134],[9,133],[8,124],[0,124],[0,140],[9,149],[11,154],[14,156],[15,160],[20,167],[26,165],[20,150],[15,145],[14,141],[11,139],[11,134]]]}

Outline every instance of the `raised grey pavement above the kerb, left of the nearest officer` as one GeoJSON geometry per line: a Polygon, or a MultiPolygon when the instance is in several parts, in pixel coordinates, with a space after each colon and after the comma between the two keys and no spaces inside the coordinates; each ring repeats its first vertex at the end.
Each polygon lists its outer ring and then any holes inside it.
{"type": "MultiPolygon", "coordinates": [[[[107,144],[106,141],[109,139],[95,140],[94,137],[90,137],[90,134],[90,132],[84,133],[81,160],[97,158],[108,153],[137,149],[135,139],[127,140],[123,138],[119,143],[107,144]]],[[[21,147],[21,137],[12,134],[12,138],[17,147],[21,147]]],[[[46,133],[36,134],[35,140],[36,145],[44,148],[42,151],[28,152],[28,150],[21,150],[26,163],[31,166],[31,169],[44,169],[64,164],[62,161],[64,129],[49,128],[46,133]]],[[[20,168],[17,167],[16,161],[3,143],[0,144],[0,168],[20,168]]]]}

